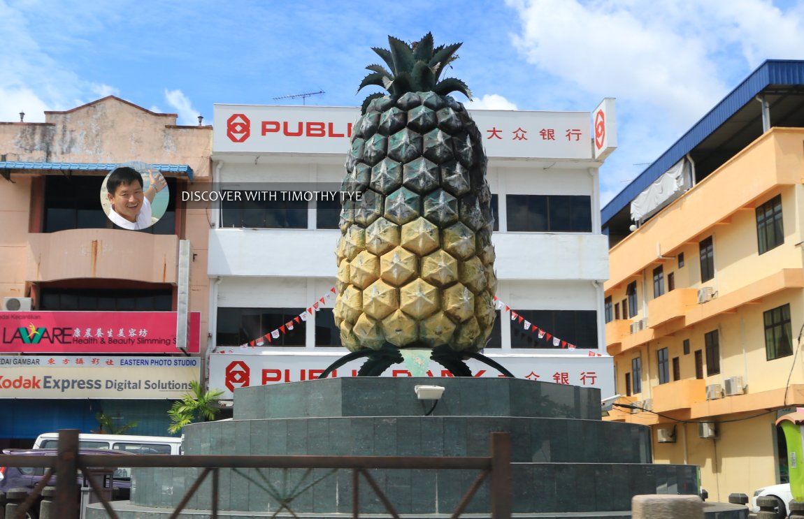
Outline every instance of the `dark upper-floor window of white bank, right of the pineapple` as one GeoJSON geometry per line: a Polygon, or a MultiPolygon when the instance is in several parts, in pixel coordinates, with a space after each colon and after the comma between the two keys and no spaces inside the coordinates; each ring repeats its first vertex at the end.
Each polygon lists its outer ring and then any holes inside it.
{"type": "Polygon", "coordinates": [[[567,194],[509,194],[508,231],[591,232],[592,198],[567,194]]]}

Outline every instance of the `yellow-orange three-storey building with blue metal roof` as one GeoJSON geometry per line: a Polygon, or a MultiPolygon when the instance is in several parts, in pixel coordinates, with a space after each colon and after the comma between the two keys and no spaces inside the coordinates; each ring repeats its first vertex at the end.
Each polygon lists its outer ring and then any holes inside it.
{"type": "MultiPolygon", "coordinates": [[[[605,342],[656,463],[712,501],[786,482],[804,405],[804,62],[767,61],[602,210],[605,342]],[[645,411],[642,411],[642,410],[645,411]]],[[[604,395],[605,396],[605,395],[604,395]]]]}

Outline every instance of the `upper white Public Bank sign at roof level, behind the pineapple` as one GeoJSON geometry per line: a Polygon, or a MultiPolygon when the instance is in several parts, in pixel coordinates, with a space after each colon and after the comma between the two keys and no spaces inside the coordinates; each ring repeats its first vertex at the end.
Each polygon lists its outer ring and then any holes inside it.
{"type": "MultiPolygon", "coordinates": [[[[214,113],[213,153],[343,155],[349,150],[360,110],[215,104],[214,113]]],[[[590,112],[471,110],[470,114],[489,157],[593,157],[590,112]]]]}

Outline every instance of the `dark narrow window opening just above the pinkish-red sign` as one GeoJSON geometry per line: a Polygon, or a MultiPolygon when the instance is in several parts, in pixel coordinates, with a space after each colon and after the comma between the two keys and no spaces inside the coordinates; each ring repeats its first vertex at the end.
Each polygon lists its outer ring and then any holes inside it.
{"type": "Polygon", "coordinates": [[[42,288],[39,309],[61,312],[170,312],[173,290],[42,288]]]}

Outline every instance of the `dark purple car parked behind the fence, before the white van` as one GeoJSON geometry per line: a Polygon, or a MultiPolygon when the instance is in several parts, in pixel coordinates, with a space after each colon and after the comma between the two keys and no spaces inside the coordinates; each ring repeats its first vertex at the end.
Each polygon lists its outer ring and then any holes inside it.
{"type": "MultiPolygon", "coordinates": [[[[108,449],[90,449],[80,448],[79,455],[100,455],[100,456],[136,456],[130,452],[110,451],[108,449]]],[[[2,453],[8,456],[55,456],[56,449],[3,449],[2,453]]],[[[47,468],[43,467],[0,467],[0,492],[8,492],[11,488],[26,488],[28,492],[34,489],[36,484],[42,480],[47,472],[47,468]]],[[[127,475],[129,472],[126,472],[127,475]]],[[[83,474],[78,474],[78,484],[82,488],[88,488],[89,482],[84,480],[83,474]]],[[[104,484],[102,481],[98,481],[104,484]]],[[[55,486],[55,474],[51,476],[50,481],[47,483],[49,486],[55,486]]],[[[129,477],[121,477],[115,472],[112,479],[113,495],[116,499],[129,499],[131,495],[131,480],[129,477]]],[[[36,519],[39,517],[39,501],[31,507],[27,514],[27,519],[36,519]]]]}

